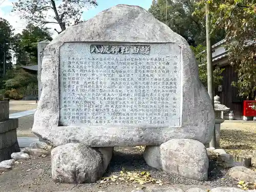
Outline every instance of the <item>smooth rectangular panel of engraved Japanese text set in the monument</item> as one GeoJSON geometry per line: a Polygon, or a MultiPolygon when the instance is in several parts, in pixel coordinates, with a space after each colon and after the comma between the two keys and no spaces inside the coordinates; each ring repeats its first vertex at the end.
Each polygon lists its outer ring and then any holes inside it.
{"type": "Polygon", "coordinates": [[[61,125],[181,126],[177,44],[65,42],[59,59],[61,125]]]}

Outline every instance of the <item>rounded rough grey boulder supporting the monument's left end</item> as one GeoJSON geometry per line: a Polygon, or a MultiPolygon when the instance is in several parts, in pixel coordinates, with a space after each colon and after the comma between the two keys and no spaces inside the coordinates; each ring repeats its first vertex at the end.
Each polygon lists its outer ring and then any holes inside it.
{"type": "Polygon", "coordinates": [[[61,183],[96,182],[112,158],[113,147],[91,148],[83,143],[68,143],[51,152],[52,178],[61,183]]]}

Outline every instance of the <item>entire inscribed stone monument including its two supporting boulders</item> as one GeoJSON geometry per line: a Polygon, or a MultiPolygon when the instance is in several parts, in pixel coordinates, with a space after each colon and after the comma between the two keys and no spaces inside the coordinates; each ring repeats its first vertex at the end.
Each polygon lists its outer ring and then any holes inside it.
{"type": "Polygon", "coordinates": [[[32,131],[57,146],[55,181],[94,182],[114,146],[136,145],[147,145],[153,167],[207,179],[215,113],[198,64],[186,40],[143,8],[117,5],[63,31],[44,50],[41,83],[32,131]]]}

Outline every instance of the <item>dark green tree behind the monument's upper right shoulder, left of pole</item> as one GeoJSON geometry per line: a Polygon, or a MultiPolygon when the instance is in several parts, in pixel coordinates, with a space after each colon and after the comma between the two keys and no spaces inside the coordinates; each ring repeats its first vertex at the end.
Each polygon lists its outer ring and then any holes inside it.
{"type": "MultiPolygon", "coordinates": [[[[153,0],[151,12],[160,22],[166,25],[174,32],[183,36],[189,45],[205,45],[205,19],[203,16],[194,15],[197,4],[194,0],[153,0]],[[167,18],[167,19],[166,19],[167,18]]],[[[218,30],[211,37],[212,44],[224,38],[224,30],[218,30]]]]}

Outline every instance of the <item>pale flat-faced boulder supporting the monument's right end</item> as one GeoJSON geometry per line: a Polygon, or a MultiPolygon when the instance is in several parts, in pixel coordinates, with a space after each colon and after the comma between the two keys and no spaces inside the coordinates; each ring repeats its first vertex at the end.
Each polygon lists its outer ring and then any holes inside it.
{"type": "Polygon", "coordinates": [[[203,143],[192,139],[171,139],[160,146],[146,146],[146,163],[170,174],[205,181],[209,160],[203,143]]]}

